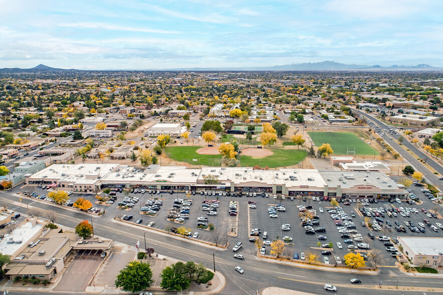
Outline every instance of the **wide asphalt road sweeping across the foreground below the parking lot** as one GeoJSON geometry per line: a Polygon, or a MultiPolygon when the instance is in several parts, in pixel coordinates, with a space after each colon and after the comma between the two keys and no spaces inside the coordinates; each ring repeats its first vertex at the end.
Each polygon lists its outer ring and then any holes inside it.
{"type": "MultiPolygon", "coordinates": [[[[27,213],[26,206],[21,206],[19,199],[10,193],[3,193],[0,196],[0,202],[7,203],[8,208],[23,214],[27,213]]],[[[104,238],[114,239],[118,242],[135,245],[135,243],[143,240],[143,233],[146,232],[146,241],[148,246],[156,249],[156,252],[162,255],[173,257],[180,260],[193,260],[203,262],[206,266],[213,266],[212,253],[213,250],[199,245],[190,247],[185,240],[177,240],[168,236],[159,235],[155,232],[145,231],[117,222],[110,221],[106,215],[94,217],[90,214],[81,212],[72,212],[65,210],[61,206],[51,206],[37,202],[33,199],[26,199],[30,207],[40,208],[42,211],[50,209],[57,214],[56,223],[62,226],[75,227],[84,219],[92,219],[94,233],[104,238]]],[[[245,206],[243,206],[244,208],[245,206]]],[[[242,206],[240,206],[242,208],[242,206]]],[[[246,211],[246,208],[244,208],[246,211]]],[[[241,210],[241,209],[240,209],[241,210]]],[[[241,210],[242,211],[242,210],[241,210]]],[[[241,214],[243,212],[240,212],[241,214]]],[[[43,216],[42,214],[41,216],[43,216]]],[[[247,226],[244,219],[239,220],[240,228],[239,236],[244,236],[247,226]],[[243,231],[243,232],[242,232],[243,231]]],[[[226,286],[220,294],[254,294],[256,290],[261,292],[262,289],[269,286],[279,286],[288,289],[297,289],[316,294],[328,293],[323,290],[324,283],[332,283],[338,287],[338,294],[422,294],[422,291],[397,291],[374,289],[380,282],[382,285],[388,285],[395,288],[397,282],[401,289],[403,286],[414,286],[428,288],[443,288],[443,281],[437,277],[411,277],[401,274],[395,267],[381,267],[377,275],[359,274],[363,284],[351,285],[349,279],[355,277],[352,273],[336,273],[333,271],[323,271],[310,268],[293,267],[284,264],[274,264],[258,259],[255,253],[243,253],[245,260],[236,260],[233,258],[232,250],[216,250],[216,269],[221,271],[226,277],[226,286]],[[244,269],[243,274],[234,271],[234,267],[240,265],[244,269]]],[[[13,293],[13,292],[11,292],[13,293]]],[[[20,293],[20,292],[15,292],[20,293]]],[[[23,292],[32,293],[32,292],[23,292]]],[[[52,292],[53,294],[56,292],[52,292]]]]}

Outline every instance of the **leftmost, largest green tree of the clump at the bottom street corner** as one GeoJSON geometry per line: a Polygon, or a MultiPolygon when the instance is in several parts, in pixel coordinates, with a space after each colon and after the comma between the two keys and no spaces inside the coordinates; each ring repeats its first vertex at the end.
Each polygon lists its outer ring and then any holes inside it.
{"type": "Polygon", "coordinates": [[[165,267],[160,277],[162,278],[160,286],[168,291],[183,291],[191,284],[191,280],[187,277],[185,264],[180,261],[165,267]]]}

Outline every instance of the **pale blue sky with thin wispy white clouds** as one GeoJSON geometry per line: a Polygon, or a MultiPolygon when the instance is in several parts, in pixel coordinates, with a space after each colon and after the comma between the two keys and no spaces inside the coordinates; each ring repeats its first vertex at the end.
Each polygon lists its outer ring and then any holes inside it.
{"type": "Polygon", "coordinates": [[[0,0],[0,68],[443,67],[443,1],[0,0]]]}

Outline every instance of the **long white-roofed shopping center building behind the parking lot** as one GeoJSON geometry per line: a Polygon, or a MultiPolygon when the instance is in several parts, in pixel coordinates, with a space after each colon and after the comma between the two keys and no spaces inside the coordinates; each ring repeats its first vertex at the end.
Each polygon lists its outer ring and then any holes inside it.
{"type": "Polygon", "coordinates": [[[408,193],[383,172],[254,170],[250,167],[151,165],[144,171],[119,164],[54,164],[26,179],[32,186],[57,183],[61,190],[97,193],[104,188],[160,191],[265,192],[287,196],[406,198],[408,193]]]}

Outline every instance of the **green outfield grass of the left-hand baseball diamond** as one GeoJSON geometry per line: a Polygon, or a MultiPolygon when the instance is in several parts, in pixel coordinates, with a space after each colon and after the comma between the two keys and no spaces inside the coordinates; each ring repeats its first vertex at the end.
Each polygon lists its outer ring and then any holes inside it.
{"type": "Polygon", "coordinates": [[[192,165],[220,166],[221,155],[200,155],[197,150],[201,146],[169,146],[166,153],[169,158],[192,165]],[[198,159],[198,162],[192,161],[198,159]]]}

